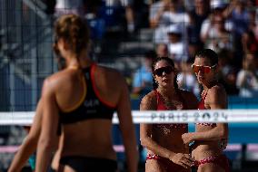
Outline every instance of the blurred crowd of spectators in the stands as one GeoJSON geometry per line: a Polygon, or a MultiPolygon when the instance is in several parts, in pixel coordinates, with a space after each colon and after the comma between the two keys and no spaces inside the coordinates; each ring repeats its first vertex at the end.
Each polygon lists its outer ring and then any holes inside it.
{"type": "Polygon", "coordinates": [[[152,30],[154,50],[144,54],[132,75],[132,93],[152,89],[151,63],[168,56],[176,64],[182,89],[199,95],[191,65],[203,48],[219,54],[219,81],[229,95],[258,95],[258,1],[257,0],[45,0],[55,16],[74,13],[87,19],[93,40],[110,30],[135,35],[152,30]]]}

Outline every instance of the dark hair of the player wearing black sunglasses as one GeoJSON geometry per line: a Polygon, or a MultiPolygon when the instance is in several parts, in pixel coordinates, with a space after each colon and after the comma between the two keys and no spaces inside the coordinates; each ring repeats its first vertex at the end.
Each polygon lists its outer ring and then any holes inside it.
{"type": "MultiPolygon", "coordinates": [[[[172,67],[174,67],[174,61],[168,57],[157,57],[154,62],[153,62],[153,65],[152,65],[152,71],[154,73],[154,69],[155,69],[155,65],[157,62],[160,62],[160,61],[166,61],[168,62],[172,67]]],[[[153,75],[153,87],[154,87],[154,90],[156,90],[158,88],[158,83],[155,81],[154,79],[154,75],[153,75]]],[[[174,89],[178,89],[178,84],[177,84],[177,74],[175,74],[175,77],[174,77],[174,89]]]]}

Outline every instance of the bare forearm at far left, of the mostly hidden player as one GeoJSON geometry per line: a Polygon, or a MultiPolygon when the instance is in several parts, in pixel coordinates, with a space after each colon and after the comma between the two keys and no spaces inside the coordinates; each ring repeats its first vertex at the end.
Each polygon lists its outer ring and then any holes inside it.
{"type": "Polygon", "coordinates": [[[25,138],[24,143],[20,146],[17,153],[15,154],[15,158],[13,159],[8,172],[21,171],[30,155],[35,152],[37,141],[40,135],[42,114],[42,100],[39,100],[35,110],[35,118],[33,120],[32,127],[27,137],[25,138]]]}

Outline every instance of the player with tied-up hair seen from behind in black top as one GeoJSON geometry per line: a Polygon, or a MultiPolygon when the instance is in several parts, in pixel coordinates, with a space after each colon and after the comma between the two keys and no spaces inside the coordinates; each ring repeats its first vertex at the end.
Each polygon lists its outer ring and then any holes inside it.
{"type": "Polygon", "coordinates": [[[46,171],[58,123],[60,165],[74,171],[116,171],[111,131],[117,110],[128,171],[136,172],[138,152],[124,78],[89,59],[89,33],[79,16],[61,16],[55,24],[55,38],[55,52],[65,58],[66,68],[44,82],[35,171],[46,171]]]}

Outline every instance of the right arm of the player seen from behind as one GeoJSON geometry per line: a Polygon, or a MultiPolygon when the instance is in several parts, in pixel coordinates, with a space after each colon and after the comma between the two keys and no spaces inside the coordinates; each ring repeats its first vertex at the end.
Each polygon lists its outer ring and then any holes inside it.
{"type": "Polygon", "coordinates": [[[124,81],[124,78],[120,76],[119,87],[120,98],[117,106],[117,114],[119,119],[119,127],[122,132],[122,138],[124,141],[126,162],[129,172],[136,172],[138,167],[138,151],[136,145],[136,136],[134,130],[134,123],[131,114],[131,102],[129,97],[129,91],[124,81]]]}

